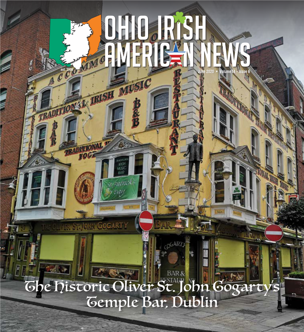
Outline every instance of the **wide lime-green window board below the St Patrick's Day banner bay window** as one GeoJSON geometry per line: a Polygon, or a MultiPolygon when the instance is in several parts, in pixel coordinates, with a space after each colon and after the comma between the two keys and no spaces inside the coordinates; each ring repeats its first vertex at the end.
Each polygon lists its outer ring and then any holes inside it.
{"type": "Polygon", "coordinates": [[[140,234],[94,234],[92,262],[142,265],[140,234]]]}

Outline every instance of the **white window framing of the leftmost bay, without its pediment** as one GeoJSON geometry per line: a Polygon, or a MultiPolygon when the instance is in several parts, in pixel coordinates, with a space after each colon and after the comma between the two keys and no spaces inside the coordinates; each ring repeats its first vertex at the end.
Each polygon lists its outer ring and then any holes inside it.
{"type": "MultiPolygon", "coordinates": [[[[24,169],[20,172],[20,186],[18,187],[18,195],[17,195],[17,209],[32,209],[32,208],[39,208],[39,207],[66,207],[66,196],[67,196],[67,187],[68,187],[68,175],[69,171],[67,168],[58,166],[58,165],[42,165],[41,167],[31,168],[31,169],[24,169]],[[44,205],[44,196],[45,196],[45,178],[46,178],[46,171],[48,169],[52,170],[52,177],[51,177],[51,184],[50,184],[50,196],[49,196],[49,203],[44,205]],[[63,170],[66,172],[65,176],[65,187],[63,191],[63,200],[62,205],[56,205],[56,195],[57,195],[57,184],[58,184],[58,174],[59,170],[63,170]],[[33,173],[36,171],[42,171],[41,177],[41,187],[40,187],[40,195],[39,195],[39,204],[37,206],[31,206],[31,197],[32,197],[32,176],[33,173]],[[26,190],[26,204],[22,207],[22,196],[23,196],[23,181],[24,175],[29,173],[28,179],[28,186],[26,190]]],[[[48,187],[48,186],[47,186],[48,187]]]]}

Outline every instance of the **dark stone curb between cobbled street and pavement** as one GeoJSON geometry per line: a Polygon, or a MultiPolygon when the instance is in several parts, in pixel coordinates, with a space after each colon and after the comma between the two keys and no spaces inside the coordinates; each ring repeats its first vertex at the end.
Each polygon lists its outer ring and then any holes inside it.
{"type": "Polygon", "coordinates": [[[26,304],[32,304],[32,305],[37,305],[37,306],[40,306],[40,307],[45,307],[45,308],[50,308],[50,309],[73,312],[73,313],[76,313],[78,315],[89,316],[89,317],[99,317],[99,318],[104,318],[104,319],[109,319],[109,320],[114,320],[114,321],[120,321],[120,322],[124,322],[124,323],[128,323],[128,324],[151,327],[151,328],[162,329],[162,330],[167,330],[167,331],[217,332],[215,330],[203,330],[201,328],[194,328],[194,327],[186,328],[186,327],[181,327],[181,326],[168,326],[168,325],[162,325],[162,324],[158,324],[158,323],[142,322],[140,320],[134,320],[134,319],[123,318],[123,317],[116,317],[116,316],[111,316],[111,315],[102,314],[102,313],[81,311],[81,310],[78,310],[78,309],[71,309],[71,308],[61,307],[59,305],[53,305],[53,304],[47,304],[47,303],[39,303],[39,302],[24,300],[24,299],[21,299],[21,298],[13,298],[13,297],[5,296],[5,295],[0,295],[0,299],[15,301],[15,302],[21,302],[21,303],[26,303],[26,304]]]}

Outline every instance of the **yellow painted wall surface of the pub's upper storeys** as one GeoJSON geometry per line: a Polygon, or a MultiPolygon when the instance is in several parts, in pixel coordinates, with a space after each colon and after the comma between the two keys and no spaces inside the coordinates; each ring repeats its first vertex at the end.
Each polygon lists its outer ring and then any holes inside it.
{"type": "MultiPolygon", "coordinates": [[[[195,21],[195,19],[194,19],[195,21]]],[[[192,27],[194,27],[194,24],[192,24],[192,27]]],[[[212,28],[213,29],[213,28],[212,28]]],[[[216,31],[212,30],[211,27],[207,24],[206,27],[206,42],[209,41],[212,36],[214,37],[214,41],[222,41],[220,40],[219,35],[217,34],[216,31]],[[212,35],[212,36],[211,36],[212,35]]],[[[186,33],[184,31],[185,29],[181,27],[181,34],[186,33]]],[[[156,31],[155,31],[156,32],[156,31]]],[[[154,33],[154,32],[152,32],[154,33]]],[[[152,33],[149,35],[149,38],[152,36],[152,33]]],[[[176,36],[176,31],[174,31],[174,36],[176,36]]],[[[200,40],[197,41],[199,46],[200,46],[200,40]]],[[[183,40],[181,40],[181,49],[183,49],[183,40]]],[[[195,49],[195,47],[194,47],[195,49]]],[[[139,49],[138,51],[142,51],[139,49]]],[[[195,49],[195,52],[197,55],[199,55],[199,51],[195,49]]],[[[120,85],[117,87],[108,87],[108,77],[109,77],[109,68],[105,67],[105,63],[100,62],[100,59],[103,57],[104,53],[99,52],[98,55],[93,57],[91,60],[88,62],[94,62],[96,59],[98,59],[97,66],[91,66],[90,64],[88,65],[87,70],[78,70],[77,74],[81,74],[83,77],[82,80],[82,99],[86,99],[89,101],[90,104],[90,99],[92,96],[100,95],[105,92],[109,92],[114,90],[114,99],[105,101],[102,103],[97,103],[92,106],[90,106],[90,111],[94,114],[93,120],[89,120],[86,125],[85,125],[85,132],[87,134],[92,135],[92,140],[90,143],[94,142],[103,142],[103,145],[105,142],[108,142],[110,138],[108,139],[103,139],[104,136],[104,125],[105,125],[105,114],[106,114],[106,108],[107,104],[110,102],[113,102],[113,100],[125,100],[126,101],[126,108],[125,108],[125,125],[124,125],[124,130],[123,132],[128,135],[130,138],[133,138],[133,134],[136,140],[138,140],[141,143],[149,143],[152,142],[153,144],[157,145],[158,147],[163,147],[164,149],[164,155],[168,159],[169,165],[173,166],[173,171],[172,173],[168,174],[167,179],[164,184],[164,192],[166,194],[172,195],[172,201],[170,202],[170,205],[177,205],[179,206],[179,199],[185,199],[184,192],[179,192],[176,190],[178,186],[183,186],[184,185],[184,179],[179,179],[179,174],[180,172],[185,172],[185,166],[184,164],[179,164],[179,160],[183,159],[184,157],[183,152],[180,151],[180,147],[182,145],[185,145],[185,140],[181,140],[181,135],[186,134],[186,127],[181,127],[178,129],[179,133],[179,146],[177,149],[176,155],[171,155],[171,151],[169,149],[169,135],[172,132],[172,129],[170,126],[158,128],[158,131],[156,128],[152,130],[146,131],[146,110],[147,110],[147,104],[148,104],[148,99],[147,95],[149,91],[151,91],[154,88],[157,88],[162,85],[170,85],[171,89],[173,90],[173,71],[176,69],[180,69],[181,73],[186,73],[189,70],[189,67],[176,67],[176,68],[170,68],[163,70],[161,72],[157,72],[152,75],[148,75],[149,72],[149,67],[129,67],[128,68],[128,83],[124,85],[120,85]],[[81,72],[80,72],[81,71],[81,72]],[[126,94],[124,96],[119,97],[119,90],[122,87],[126,87],[127,85],[140,82],[141,80],[146,80],[147,78],[152,79],[151,84],[148,89],[143,89],[142,91],[138,92],[132,92],[129,94],[126,94]],[[135,98],[140,99],[141,102],[141,108],[139,109],[140,113],[140,124],[137,128],[132,129],[132,109],[133,109],[133,101],[135,98]]],[[[133,53],[131,53],[131,63],[132,63],[132,57],[133,53]]],[[[211,56],[213,58],[213,56],[211,56]]],[[[138,60],[139,62],[139,60],[138,60]]],[[[240,59],[238,60],[238,64],[240,64],[240,59]]],[[[36,96],[39,91],[45,87],[47,87],[50,83],[50,80],[53,78],[54,83],[49,85],[52,87],[52,103],[51,103],[51,109],[46,111],[46,113],[56,110],[58,108],[62,108],[66,106],[63,104],[63,100],[65,99],[65,92],[66,92],[66,82],[67,79],[72,77],[71,72],[67,71],[60,71],[61,67],[55,71],[49,71],[49,74],[47,77],[40,79],[37,77],[35,80],[35,89],[34,89],[34,96],[36,96]],[[65,75],[68,75],[67,78],[65,78],[65,75]]],[[[211,191],[211,184],[209,180],[202,175],[202,170],[206,169],[208,164],[209,164],[209,152],[218,152],[221,148],[226,146],[226,143],[222,142],[218,138],[212,138],[212,98],[216,96],[220,101],[224,102],[230,109],[235,111],[238,114],[238,146],[242,145],[247,145],[250,147],[250,127],[254,127],[260,135],[260,158],[261,158],[261,166],[260,168],[262,170],[265,170],[265,139],[269,139],[272,143],[273,149],[272,149],[272,159],[273,159],[273,169],[274,169],[274,178],[277,179],[276,176],[276,149],[279,146],[275,141],[273,141],[269,136],[268,133],[265,133],[262,131],[258,126],[257,126],[257,119],[253,115],[253,122],[248,119],[244,114],[242,114],[236,107],[235,105],[231,104],[224,96],[220,95],[219,93],[219,81],[218,81],[218,67],[205,67],[205,69],[213,70],[213,73],[206,73],[204,77],[204,141],[203,141],[203,146],[204,146],[204,156],[203,156],[203,163],[200,165],[200,175],[199,175],[199,180],[202,182],[201,190],[203,190],[204,193],[206,194],[201,194],[199,195],[199,201],[197,202],[197,205],[202,204],[202,199],[206,196],[209,197],[210,191],[211,191]],[[203,188],[203,189],[202,189],[203,188]]],[[[254,79],[251,73],[249,73],[249,82],[244,78],[243,73],[239,73],[237,71],[237,68],[234,68],[235,72],[233,73],[233,78],[232,78],[232,86],[234,90],[234,97],[237,98],[242,104],[244,104],[248,109],[250,109],[250,88],[253,85],[254,79]]],[[[248,70],[248,68],[243,68],[240,66],[240,70],[248,70]]],[[[196,74],[195,79],[198,81],[199,80],[199,74],[196,74]]],[[[187,80],[183,79],[181,77],[180,79],[180,84],[181,86],[186,84],[187,80]]],[[[255,82],[256,83],[256,82],[255,82]]],[[[30,86],[32,87],[32,86],[30,86]]],[[[198,91],[197,87],[197,91],[198,91]]],[[[185,90],[186,91],[186,90],[185,90]]],[[[286,142],[286,127],[291,129],[292,135],[293,135],[293,130],[292,130],[292,123],[289,118],[287,118],[285,115],[282,113],[281,106],[276,103],[274,98],[269,94],[269,92],[266,90],[264,85],[257,85],[257,92],[259,95],[259,112],[260,112],[260,120],[264,122],[264,103],[265,103],[265,98],[267,99],[267,103],[269,101],[271,102],[272,105],[272,125],[274,127],[273,132],[275,133],[275,116],[279,113],[280,117],[282,118],[282,125],[283,125],[283,136],[284,136],[284,142],[286,142]],[[260,94],[259,94],[260,91],[260,94]],[[280,111],[278,111],[280,110],[280,111]]],[[[187,92],[182,92],[184,97],[187,92]]],[[[173,93],[171,92],[171,106],[173,105],[173,93]]],[[[75,103],[75,101],[73,102],[75,103]]],[[[197,98],[196,103],[199,104],[199,99],[197,98]]],[[[29,102],[29,107],[32,107],[33,101],[29,102]]],[[[68,103],[72,104],[72,103],[68,103]]],[[[180,109],[186,109],[187,108],[187,102],[179,102],[179,107],[180,109]]],[[[38,109],[37,105],[37,109],[38,109]]],[[[171,107],[172,109],[172,107],[171,107]]],[[[84,110],[83,110],[84,111],[84,110]]],[[[170,113],[171,110],[169,110],[170,113]]],[[[187,114],[181,114],[182,112],[180,111],[179,113],[179,121],[182,123],[183,121],[186,121],[187,114]]],[[[196,116],[198,117],[198,111],[196,112],[196,116]]],[[[87,205],[82,205],[78,203],[75,199],[74,196],[74,184],[77,178],[82,174],[83,172],[90,171],[90,172],[95,172],[95,159],[85,159],[85,160],[79,160],[80,155],[79,154],[74,154],[70,156],[65,156],[65,150],[64,149],[59,149],[59,145],[61,143],[61,135],[62,135],[62,128],[63,128],[63,119],[67,114],[64,115],[59,115],[47,120],[42,120],[39,121],[39,117],[41,113],[35,113],[35,122],[34,124],[41,124],[41,123],[48,123],[48,130],[46,133],[47,137],[47,145],[46,145],[46,154],[47,156],[51,156],[51,153],[53,153],[53,156],[56,158],[59,158],[59,160],[63,163],[71,163],[71,167],[69,169],[69,180],[68,180],[68,188],[67,188],[67,204],[66,204],[66,209],[64,213],[64,218],[76,218],[79,217],[79,214],[76,212],[77,209],[85,209],[87,212],[86,216],[91,217],[93,216],[94,213],[94,207],[93,204],[87,204],[87,205]],[[57,135],[57,143],[55,146],[50,147],[50,139],[49,137],[51,136],[52,133],[52,124],[53,122],[56,121],[58,123],[58,128],[56,129],[56,135],[57,135]]],[[[71,113],[70,113],[71,114],[71,113]]],[[[83,113],[81,116],[79,116],[78,119],[78,131],[77,131],[77,146],[85,145],[88,144],[86,137],[83,134],[82,131],[82,120],[86,119],[86,115],[83,113]]],[[[197,124],[198,127],[198,124],[197,124]]],[[[25,128],[29,129],[29,128],[25,128]]],[[[25,138],[29,138],[29,135],[27,135],[25,138]]],[[[228,149],[232,149],[232,146],[227,147],[228,149]]],[[[27,146],[25,148],[25,151],[27,152],[27,146]]],[[[23,153],[25,152],[23,151],[23,153]]],[[[291,157],[293,160],[293,151],[288,148],[288,152],[283,150],[284,154],[284,173],[285,175],[287,174],[287,156],[291,157]]],[[[159,183],[162,183],[164,173],[162,172],[159,177],[159,183]]],[[[267,173],[269,173],[267,171],[267,173]]],[[[285,185],[287,185],[287,175],[285,176],[285,185]]],[[[262,195],[266,195],[266,184],[271,183],[269,179],[265,179],[263,177],[259,177],[261,180],[261,198],[262,195]]],[[[273,183],[271,183],[274,185],[273,183]]],[[[280,180],[278,180],[278,186],[277,189],[280,188],[280,180]]],[[[290,190],[293,190],[289,186],[289,192],[290,190]]],[[[296,189],[294,189],[296,190],[296,189]]],[[[286,199],[285,195],[285,199],[286,199]]],[[[157,207],[157,213],[168,213],[168,209],[165,207],[166,202],[164,200],[164,196],[161,193],[161,188],[159,188],[159,204],[157,207]]],[[[266,215],[266,202],[260,200],[260,205],[261,205],[261,215],[265,216],[266,215]]],[[[183,212],[184,207],[179,206],[179,210],[183,212]]],[[[276,208],[273,209],[273,213],[276,212],[276,208]]],[[[206,214],[210,215],[210,208],[206,209],[206,214]]]]}

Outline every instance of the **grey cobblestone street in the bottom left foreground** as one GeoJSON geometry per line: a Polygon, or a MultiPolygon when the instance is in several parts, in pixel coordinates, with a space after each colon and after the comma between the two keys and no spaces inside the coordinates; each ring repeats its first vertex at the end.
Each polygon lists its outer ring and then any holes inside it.
{"type": "Polygon", "coordinates": [[[1,332],[164,332],[164,330],[88,317],[76,313],[36,305],[3,300],[0,302],[1,332]]]}

